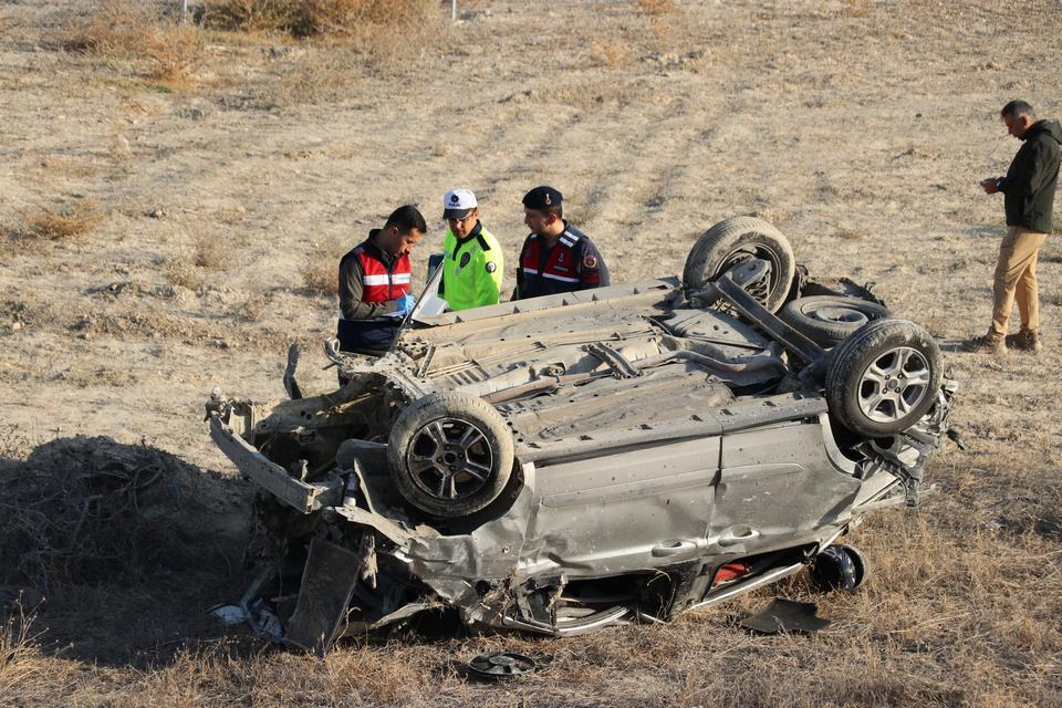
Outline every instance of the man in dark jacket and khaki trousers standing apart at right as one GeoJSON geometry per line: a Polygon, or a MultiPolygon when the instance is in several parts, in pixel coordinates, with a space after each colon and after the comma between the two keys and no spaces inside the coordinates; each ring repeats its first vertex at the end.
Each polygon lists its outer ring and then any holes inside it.
{"type": "Polygon", "coordinates": [[[1062,127],[1056,121],[1038,119],[1024,101],[1011,101],[1000,112],[1007,131],[1023,142],[1006,177],[981,180],[986,194],[1003,192],[1007,236],[999,247],[993,283],[995,304],[988,334],[966,343],[969,351],[1003,354],[1007,346],[1039,352],[1040,302],[1037,258],[1051,232],[1051,211],[1059,181],[1062,127]],[[1018,300],[1021,330],[1007,336],[1010,310],[1018,300]]]}

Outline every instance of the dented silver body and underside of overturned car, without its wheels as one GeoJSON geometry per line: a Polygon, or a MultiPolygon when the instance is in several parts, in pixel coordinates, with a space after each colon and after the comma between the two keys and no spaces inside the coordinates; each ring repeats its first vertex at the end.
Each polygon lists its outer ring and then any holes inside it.
{"type": "Polygon", "coordinates": [[[839,434],[826,354],[737,287],[709,293],[730,310],[665,278],[414,312],[382,357],[326,347],[336,392],[216,395],[210,435],[262,488],[274,580],[253,602],[293,598],[275,603],[287,641],[319,652],[437,607],[564,636],[773,582],[897,489],[909,502],[954,387],[888,449],[839,434]],[[388,461],[402,413],[438,393],[489,403],[512,438],[504,489],[460,518],[410,506],[388,461]]]}

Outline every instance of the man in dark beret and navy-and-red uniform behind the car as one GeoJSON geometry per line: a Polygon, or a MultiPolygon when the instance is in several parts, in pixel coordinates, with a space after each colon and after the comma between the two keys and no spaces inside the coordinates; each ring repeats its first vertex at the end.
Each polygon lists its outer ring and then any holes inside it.
{"type": "Polygon", "coordinates": [[[513,300],[610,284],[608,268],[590,237],[563,219],[563,196],[535,187],[523,197],[523,222],[531,229],[520,251],[513,300]]]}

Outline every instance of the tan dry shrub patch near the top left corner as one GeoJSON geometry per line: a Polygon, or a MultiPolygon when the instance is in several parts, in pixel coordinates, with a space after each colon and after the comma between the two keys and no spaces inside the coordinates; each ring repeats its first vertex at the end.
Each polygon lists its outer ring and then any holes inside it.
{"type": "Polygon", "coordinates": [[[135,0],[105,0],[72,20],[59,44],[67,51],[139,62],[148,76],[174,87],[192,83],[205,62],[197,28],[175,24],[160,6],[135,0]]]}

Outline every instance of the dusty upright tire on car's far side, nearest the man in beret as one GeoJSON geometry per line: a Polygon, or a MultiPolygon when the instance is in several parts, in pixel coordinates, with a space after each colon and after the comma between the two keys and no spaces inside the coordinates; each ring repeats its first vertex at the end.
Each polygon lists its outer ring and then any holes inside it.
{"type": "Polygon", "coordinates": [[[796,260],[782,232],[762,219],[733,217],[705,231],[689,250],[683,282],[690,290],[699,290],[749,258],[771,264],[769,282],[748,290],[760,304],[777,312],[789,294],[796,260]]]}

